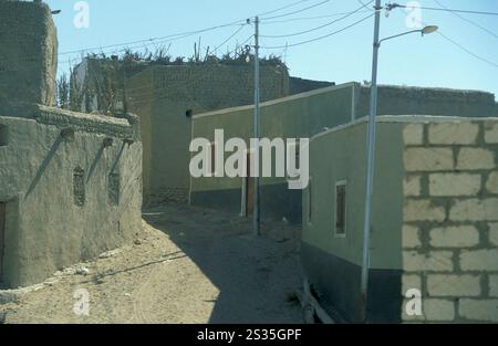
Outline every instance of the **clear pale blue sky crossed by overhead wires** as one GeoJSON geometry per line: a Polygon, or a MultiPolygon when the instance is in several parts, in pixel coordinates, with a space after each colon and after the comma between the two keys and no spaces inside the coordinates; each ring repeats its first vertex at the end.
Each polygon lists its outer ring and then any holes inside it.
{"type": "MultiPolygon", "coordinates": [[[[369,2],[369,0],[362,1],[369,2]]],[[[497,0],[421,0],[419,3],[423,7],[439,7],[435,1],[453,9],[498,12],[497,0]]],[[[89,29],[76,29],[73,24],[76,14],[73,6],[77,1],[49,0],[46,2],[52,9],[62,10],[61,14],[55,15],[55,22],[59,30],[59,51],[63,53],[225,24],[281,8],[295,0],[89,0],[86,1],[90,6],[89,29]]],[[[289,13],[319,2],[321,0],[309,0],[267,17],[289,13]]],[[[406,0],[397,2],[407,3],[406,0]]],[[[281,35],[304,31],[340,18],[318,19],[315,17],[349,12],[359,7],[357,0],[332,0],[301,13],[267,20],[267,23],[263,21],[261,34],[281,35]],[[314,19],[274,22],[295,18],[314,19]],[[273,23],[268,23],[270,21],[273,23]]],[[[364,11],[307,34],[279,39],[262,38],[261,45],[286,45],[286,43],[292,44],[322,36],[364,18],[369,14],[364,11]]],[[[403,9],[394,10],[388,18],[383,13],[382,36],[407,31],[407,15],[403,9]]],[[[422,10],[423,22],[439,25],[440,33],[471,53],[488,60],[489,63],[466,53],[439,34],[425,38],[412,34],[383,44],[380,57],[380,83],[483,90],[498,97],[498,17],[460,15],[481,28],[452,13],[422,10]]],[[[201,45],[214,49],[236,29],[230,27],[203,33],[201,45]]],[[[245,27],[221,51],[227,52],[228,49],[234,49],[237,42],[245,41],[252,31],[253,27],[245,27]]],[[[147,46],[154,51],[158,45],[168,46],[172,43],[169,51],[172,55],[190,56],[194,53],[194,42],[198,38],[197,34],[174,42],[147,43],[147,46]]],[[[371,78],[372,38],[373,18],[328,39],[289,48],[287,52],[283,49],[264,49],[262,53],[284,55],[294,76],[336,83],[361,82],[371,78]]],[[[137,44],[131,44],[131,46],[136,48],[137,44]]],[[[103,51],[111,54],[120,49],[122,48],[103,49],[103,51]]],[[[81,53],[60,55],[60,71],[66,71],[70,59],[75,62],[81,53]]]]}

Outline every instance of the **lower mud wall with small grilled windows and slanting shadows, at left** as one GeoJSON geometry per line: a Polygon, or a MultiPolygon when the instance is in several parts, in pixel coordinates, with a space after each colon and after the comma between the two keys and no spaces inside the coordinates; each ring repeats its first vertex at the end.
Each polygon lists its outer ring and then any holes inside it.
{"type": "Polygon", "coordinates": [[[0,109],[0,202],[6,205],[0,286],[37,284],[132,243],[142,227],[137,116],[37,105],[0,109]]]}

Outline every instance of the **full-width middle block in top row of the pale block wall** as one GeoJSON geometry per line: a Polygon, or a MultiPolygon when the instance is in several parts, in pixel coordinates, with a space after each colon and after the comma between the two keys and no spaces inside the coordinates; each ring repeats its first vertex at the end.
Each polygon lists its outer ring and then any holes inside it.
{"type": "Polygon", "coordinates": [[[428,137],[430,144],[471,145],[477,143],[479,125],[471,123],[430,124],[428,137]]]}

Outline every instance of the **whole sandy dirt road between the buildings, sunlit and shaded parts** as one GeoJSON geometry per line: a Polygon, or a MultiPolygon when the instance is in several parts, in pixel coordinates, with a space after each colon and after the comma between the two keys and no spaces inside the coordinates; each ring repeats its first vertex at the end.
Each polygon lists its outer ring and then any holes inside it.
{"type": "Polygon", "coordinates": [[[302,323],[299,227],[165,205],[134,244],[56,273],[0,305],[3,323],[302,323]],[[73,308],[86,290],[90,315],[73,308]],[[81,291],[80,291],[81,292],[81,291]]]}

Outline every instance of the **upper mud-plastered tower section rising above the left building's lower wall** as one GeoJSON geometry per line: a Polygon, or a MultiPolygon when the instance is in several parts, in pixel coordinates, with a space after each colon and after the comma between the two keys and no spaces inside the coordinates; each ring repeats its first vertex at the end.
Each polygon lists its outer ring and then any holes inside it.
{"type": "Polygon", "coordinates": [[[55,103],[56,29],[41,2],[0,1],[0,103],[55,103]]]}

